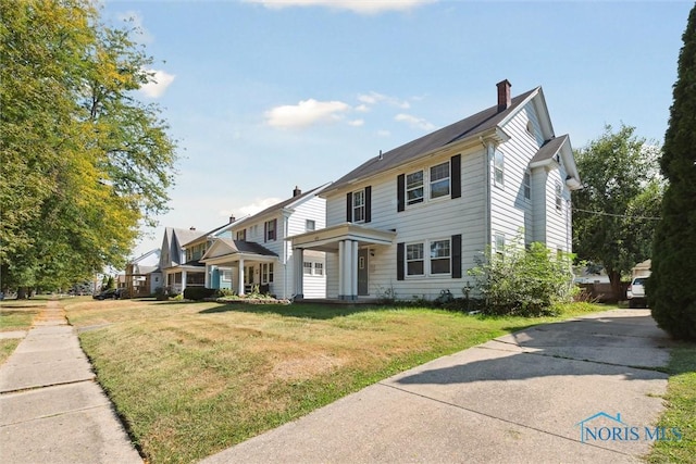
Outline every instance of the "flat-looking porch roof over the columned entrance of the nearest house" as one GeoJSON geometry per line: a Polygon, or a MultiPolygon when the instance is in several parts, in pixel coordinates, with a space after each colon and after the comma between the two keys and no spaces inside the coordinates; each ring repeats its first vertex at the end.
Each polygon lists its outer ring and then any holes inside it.
{"type": "Polygon", "coordinates": [[[338,250],[338,242],[343,240],[353,240],[359,242],[360,246],[388,246],[394,242],[395,237],[396,230],[382,230],[360,224],[343,223],[324,229],[291,236],[286,240],[291,240],[293,248],[335,252],[338,250]]]}

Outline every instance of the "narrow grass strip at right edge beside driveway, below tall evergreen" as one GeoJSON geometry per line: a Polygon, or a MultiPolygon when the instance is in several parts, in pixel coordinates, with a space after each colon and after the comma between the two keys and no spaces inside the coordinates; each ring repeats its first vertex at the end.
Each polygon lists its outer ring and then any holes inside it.
{"type": "Polygon", "coordinates": [[[658,426],[668,430],[678,428],[682,439],[658,441],[647,461],[696,463],[696,343],[681,343],[671,350],[668,373],[667,410],[658,426]]]}

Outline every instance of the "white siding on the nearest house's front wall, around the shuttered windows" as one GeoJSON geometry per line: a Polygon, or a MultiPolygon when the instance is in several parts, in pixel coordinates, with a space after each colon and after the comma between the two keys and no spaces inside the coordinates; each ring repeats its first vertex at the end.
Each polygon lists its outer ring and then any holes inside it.
{"type": "MultiPolygon", "coordinates": [[[[382,230],[395,229],[397,237],[389,247],[373,247],[374,256],[369,258],[369,292],[371,297],[383,297],[387,290],[395,291],[398,299],[425,297],[434,299],[442,290],[450,290],[455,297],[461,297],[461,289],[473,279],[467,269],[475,265],[474,258],[483,250],[485,242],[485,176],[484,150],[461,152],[461,198],[450,197],[407,205],[406,211],[397,212],[397,175],[448,161],[458,152],[444,153],[428,159],[388,176],[378,176],[371,183],[356,185],[351,190],[340,190],[327,198],[328,226],[346,222],[346,195],[366,186],[372,186],[372,222],[365,226],[382,230]],[[397,280],[397,242],[414,242],[435,239],[448,239],[452,235],[462,235],[462,278],[451,276],[409,277],[397,280]]],[[[327,296],[338,296],[338,255],[328,253],[327,296]]]]}

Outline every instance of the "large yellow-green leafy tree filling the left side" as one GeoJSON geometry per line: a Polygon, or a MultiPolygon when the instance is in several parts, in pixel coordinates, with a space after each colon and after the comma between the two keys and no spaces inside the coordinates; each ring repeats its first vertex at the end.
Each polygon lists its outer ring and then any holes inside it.
{"type": "Polygon", "coordinates": [[[152,63],[90,0],[0,0],[2,287],[121,266],[166,210],[175,143],[136,99],[152,63]]]}

